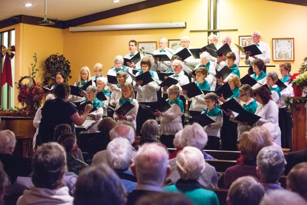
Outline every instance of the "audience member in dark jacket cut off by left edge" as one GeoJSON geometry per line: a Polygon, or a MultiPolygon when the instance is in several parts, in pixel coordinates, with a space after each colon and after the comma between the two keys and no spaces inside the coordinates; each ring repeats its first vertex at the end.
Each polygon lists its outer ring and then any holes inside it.
{"type": "Polygon", "coordinates": [[[0,131],[0,162],[11,184],[18,176],[29,176],[32,171],[30,159],[13,156],[16,143],[14,132],[8,129],[0,131]]]}

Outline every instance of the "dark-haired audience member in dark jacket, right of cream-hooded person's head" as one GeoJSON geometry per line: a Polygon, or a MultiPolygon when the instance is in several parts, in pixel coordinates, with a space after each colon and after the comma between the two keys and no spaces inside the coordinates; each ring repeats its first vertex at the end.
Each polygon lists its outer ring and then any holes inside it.
{"type": "Polygon", "coordinates": [[[66,151],[66,163],[68,171],[79,174],[82,169],[88,165],[78,160],[74,153],[77,151],[76,135],[72,133],[64,133],[58,137],[58,143],[62,145],[66,151]]]}

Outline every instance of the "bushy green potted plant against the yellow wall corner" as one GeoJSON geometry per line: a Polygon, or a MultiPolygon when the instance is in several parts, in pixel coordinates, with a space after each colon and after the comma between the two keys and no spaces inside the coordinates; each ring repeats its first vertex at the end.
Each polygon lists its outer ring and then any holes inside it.
{"type": "Polygon", "coordinates": [[[43,86],[53,84],[55,82],[56,73],[63,72],[65,74],[65,81],[72,78],[70,70],[70,62],[66,60],[63,54],[52,54],[46,61],[46,72],[44,73],[43,86]]]}

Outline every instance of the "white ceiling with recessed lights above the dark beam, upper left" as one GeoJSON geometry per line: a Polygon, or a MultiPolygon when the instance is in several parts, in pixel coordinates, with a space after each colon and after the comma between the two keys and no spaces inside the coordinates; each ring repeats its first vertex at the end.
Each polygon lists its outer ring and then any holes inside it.
{"type": "MultiPolygon", "coordinates": [[[[118,8],[145,0],[47,0],[47,18],[59,21],[76,19],[90,14],[118,8]]],[[[0,0],[0,21],[18,15],[41,17],[45,15],[45,0],[0,0]],[[31,7],[24,4],[33,3],[31,7]]]]}

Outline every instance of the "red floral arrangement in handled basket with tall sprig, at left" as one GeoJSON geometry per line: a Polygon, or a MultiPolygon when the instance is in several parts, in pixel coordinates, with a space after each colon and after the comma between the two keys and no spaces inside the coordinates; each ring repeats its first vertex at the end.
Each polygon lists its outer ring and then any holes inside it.
{"type": "MultiPolygon", "coordinates": [[[[30,71],[29,68],[29,76],[21,77],[19,82],[17,83],[17,89],[19,90],[18,101],[21,103],[22,108],[18,110],[20,114],[24,115],[35,115],[36,111],[40,107],[42,98],[43,98],[43,90],[41,84],[39,82],[35,82],[34,78],[36,77],[36,73],[38,68],[36,68],[37,56],[36,53],[33,56],[34,64],[31,63],[32,69],[30,71]],[[27,80],[27,83],[23,83],[24,80],[27,80]]],[[[40,66],[39,66],[40,67],[40,66]]]]}

